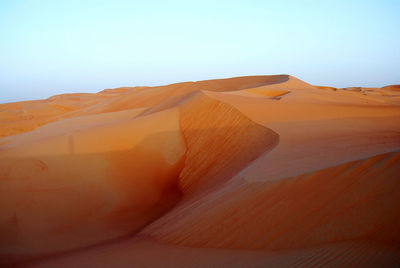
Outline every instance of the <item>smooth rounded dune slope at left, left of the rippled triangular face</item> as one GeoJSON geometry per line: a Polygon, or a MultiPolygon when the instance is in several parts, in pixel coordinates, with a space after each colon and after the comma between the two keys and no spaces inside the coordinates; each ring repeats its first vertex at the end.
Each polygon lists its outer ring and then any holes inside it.
{"type": "Polygon", "coordinates": [[[4,258],[132,233],[180,197],[186,148],[177,110],[70,134],[54,124],[22,135],[30,137],[15,136],[0,151],[4,258]]]}

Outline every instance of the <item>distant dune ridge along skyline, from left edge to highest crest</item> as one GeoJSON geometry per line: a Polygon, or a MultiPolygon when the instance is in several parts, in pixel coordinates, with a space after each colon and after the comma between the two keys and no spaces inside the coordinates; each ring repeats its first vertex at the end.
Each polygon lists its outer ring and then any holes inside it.
{"type": "Polygon", "coordinates": [[[96,94],[61,94],[45,100],[0,104],[0,137],[32,131],[63,118],[150,107],[170,96],[182,97],[198,90],[236,91],[288,80],[289,75],[244,76],[167,86],[105,89],[96,94]]]}

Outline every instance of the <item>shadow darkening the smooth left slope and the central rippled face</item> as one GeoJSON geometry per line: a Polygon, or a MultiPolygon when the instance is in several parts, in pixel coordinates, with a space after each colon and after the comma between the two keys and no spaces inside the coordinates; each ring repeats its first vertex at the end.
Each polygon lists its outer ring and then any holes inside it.
{"type": "Polygon", "coordinates": [[[211,191],[278,142],[272,131],[275,138],[261,142],[247,139],[248,132],[249,125],[186,130],[186,148],[172,158],[176,132],[151,134],[123,151],[82,153],[74,133],[63,138],[59,155],[36,149],[7,156],[12,145],[3,146],[0,263],[137,233],[184,195],[211,191]]]}

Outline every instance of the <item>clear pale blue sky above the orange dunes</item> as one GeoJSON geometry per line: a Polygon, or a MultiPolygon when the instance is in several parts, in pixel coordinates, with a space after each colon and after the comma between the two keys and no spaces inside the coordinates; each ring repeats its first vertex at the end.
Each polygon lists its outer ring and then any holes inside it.
{"type": "Polygon", "coordinates": [[[0,0],[0,103],[245,75],[400,84],[399,0],[0,0]]]}

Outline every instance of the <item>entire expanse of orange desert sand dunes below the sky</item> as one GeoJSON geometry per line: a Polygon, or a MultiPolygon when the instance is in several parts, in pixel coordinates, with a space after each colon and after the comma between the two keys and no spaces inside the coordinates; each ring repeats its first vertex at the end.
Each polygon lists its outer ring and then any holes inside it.
{"type": "Polygon", "coordinates": [[[288,75],[0,105],[0,265],[400,266],[399,86],[288,75]]]}

